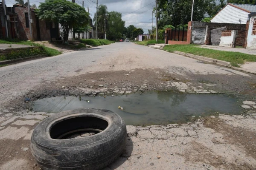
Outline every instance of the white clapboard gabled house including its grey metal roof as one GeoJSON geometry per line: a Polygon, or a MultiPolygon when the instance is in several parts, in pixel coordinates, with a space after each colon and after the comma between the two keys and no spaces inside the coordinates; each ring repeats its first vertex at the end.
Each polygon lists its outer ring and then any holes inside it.
{"type": "Polygon", "coordinates": [[[215,17],[212,23],[246,24],[249,14],[256,12],[256,5],[228,3],[215,17]]]}

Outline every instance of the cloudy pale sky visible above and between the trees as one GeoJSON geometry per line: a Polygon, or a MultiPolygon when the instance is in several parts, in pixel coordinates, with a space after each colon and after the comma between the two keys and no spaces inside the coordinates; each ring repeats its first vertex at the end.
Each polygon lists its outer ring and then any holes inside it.
{"type": "MultiPolygon", "coordinates": [[[[75,1],[82,6],[83,0],[75,1]]],[[[25,2],[26,0],[24,0],[25,2]]],[[[44,2],[44,0],[30,0],[31,5],[36,4],[36,6],[39,6],[40,2],[44,2]]],[[[15,4],[15,0],[6,0],[7,6],[12,6],[13,4],[15,4]]],[[[117,11],[122,13],[125,26],[134,25],[137,28],[143,28],[144,34],[148,33],[148,29],[151,29],[152,10],[155,6],[155,0],[98,0],[98,5],[100,4],[107,5],[109,12],[117,11]]],[[[93,18],[96,12],[96,0],[84,0],[84,7],[86,9],[89,7],[90,17],[93,18]]],[[[153,15],[153,26],[156,25],[155,23],[153,15]]]]}

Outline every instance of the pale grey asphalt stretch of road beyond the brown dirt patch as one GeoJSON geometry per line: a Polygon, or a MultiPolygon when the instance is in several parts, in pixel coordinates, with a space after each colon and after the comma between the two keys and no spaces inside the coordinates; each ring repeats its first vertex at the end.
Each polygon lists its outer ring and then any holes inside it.
{"type": "Polygon", "coordinates": [[[23,96],[41,83],[88,72],[128,71],[135,68],[163,69],[174,77],[222,83],[224,88],[235,91],[247,89],[244,82],[256,79],[252,74],[204,64],[178,54],[132,42],[118,42],[0,68],[0,105],[23,96]]]}

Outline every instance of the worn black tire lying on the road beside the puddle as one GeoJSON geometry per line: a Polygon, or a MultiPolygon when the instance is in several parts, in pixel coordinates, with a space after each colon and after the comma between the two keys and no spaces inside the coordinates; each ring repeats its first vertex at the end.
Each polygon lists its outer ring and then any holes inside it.
{"type": "Polygon", "coordinates": [[[43,170],[99,170],[121,155],[126,138],[125,122],[118,114],[77,109],[40,122],[32,133],[31,151],[43,170]],[[79,139],[57,139],[68,131],[87,128],[103,131],[79,139]]]}

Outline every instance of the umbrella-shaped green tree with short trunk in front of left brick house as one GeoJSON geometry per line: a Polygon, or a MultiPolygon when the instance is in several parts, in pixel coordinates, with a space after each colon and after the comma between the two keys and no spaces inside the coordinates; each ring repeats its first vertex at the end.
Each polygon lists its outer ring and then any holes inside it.
{"type": "Polygon", "coordinates": [[[72,27],[85,27],[89,24],[89,13],[67,0],[46,0],[40,3],[36,11],[40,20],[60,23],[65,44],[68,43],[68,34],[72,27]]]}

